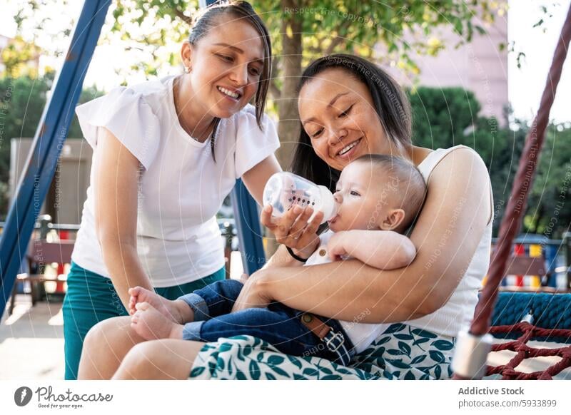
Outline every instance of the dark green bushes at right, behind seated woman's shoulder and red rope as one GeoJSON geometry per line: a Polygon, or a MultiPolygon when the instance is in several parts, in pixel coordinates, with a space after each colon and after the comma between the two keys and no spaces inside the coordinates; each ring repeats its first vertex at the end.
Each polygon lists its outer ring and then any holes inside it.
{"type": "MultiPolygon", "coordinates": [[[[409,91],[413,108],[413,143],[425,148],[467,145],[480,154],[490,171],[495,233],[510,198],[529,126],[511,128],[495,118],[478,117],[480,103],[462,88],[418,88],[409,91]]],[[[559,238],[571,223],[571,125],[550,125],[528,194],[522,232],[559,238]]]]}

